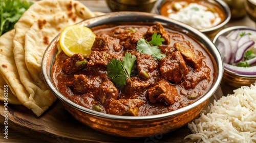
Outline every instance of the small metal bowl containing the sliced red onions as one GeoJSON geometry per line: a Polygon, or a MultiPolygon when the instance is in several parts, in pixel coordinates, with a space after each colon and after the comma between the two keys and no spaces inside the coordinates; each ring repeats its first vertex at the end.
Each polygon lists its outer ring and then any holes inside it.
{"type": "MultiPolygon", "coordinates": [[[[226,36],[231,31],[237,30],[237,29],[254,30],[254,31],[256,30],[254,28],[245,27],[245,26],[229,27],[217,33],[213,42],[216,43],[220,35],[226,36]]],[[[222,84],[229,85],[233,88],[239,88],[241,86],[250,86],[251,84],[255,83],[255,81],[256,81],[256,75],[241,75],[238,73],[234,73],[233,71],[230,71],[224,67],[222,84]]]]}

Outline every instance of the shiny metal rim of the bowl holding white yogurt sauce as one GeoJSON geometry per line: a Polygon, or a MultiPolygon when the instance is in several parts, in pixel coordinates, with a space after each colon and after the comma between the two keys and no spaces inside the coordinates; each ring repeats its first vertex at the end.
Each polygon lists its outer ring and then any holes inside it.
{"type": "MultiPolygon", "coordinates": [[[[162,4],[166,3],[167,1],[172,1],[172,0],[158,0],[156,2],[155,6],[154,6],[154,10],[155,10],[156,14],[160,14],[161,15],[160,8],[161,8],[162,4]]],[[[215,5],[216,4],[220,5],[222,7],[223,11],[225,12],[226,16],[225,16],[225,19],[219,25],[199,30],[199,31],[201,31],[203,33],[210,32],[210,31],[215,31],[217,29],[220,29],[220,28],[224,27],[229,22],[229,20],[231,19],[230,8],[229,8],[229,6],[224,1],[222,1],[222,0],[207,0],[207,1],[209,3],[215,4],[215,5]]]]}

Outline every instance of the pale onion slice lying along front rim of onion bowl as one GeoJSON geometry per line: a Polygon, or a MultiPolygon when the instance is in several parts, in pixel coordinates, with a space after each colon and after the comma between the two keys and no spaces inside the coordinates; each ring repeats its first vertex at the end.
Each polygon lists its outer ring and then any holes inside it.
{"type": "Polygon", "coordinates": [[[255,66],[239,67],[239,66],[234,66],[234,65],[224,63],[224,67],[227,70],[230,70],[230,71],[232,71],[234,73],[237,73],[237,74],[240,74],[240,75],[251,75],[251,76],[256,75],[256,67],[255,66]]]}

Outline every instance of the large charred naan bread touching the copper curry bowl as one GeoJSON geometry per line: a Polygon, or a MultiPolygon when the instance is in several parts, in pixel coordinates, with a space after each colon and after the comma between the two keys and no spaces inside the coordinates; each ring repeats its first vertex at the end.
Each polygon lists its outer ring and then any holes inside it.
{"type": "Polygon", "coordinates": [[[14,26],[14,59],[20,81],[28,92],[17,98],[37,116],[56,100],[41,75],[41,59],[46,47],[65,26],[93,16],[94,13],[78,1],[42,0],[30,6],[14,26]]]}

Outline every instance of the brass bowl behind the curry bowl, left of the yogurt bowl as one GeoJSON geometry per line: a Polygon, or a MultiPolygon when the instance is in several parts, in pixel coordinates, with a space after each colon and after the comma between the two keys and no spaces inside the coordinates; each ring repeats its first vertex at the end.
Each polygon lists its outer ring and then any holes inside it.
{"type": "Polygon", "coordinates": [[[111,11],[151,12],[157,0],[106,0],[111,11]]]}

